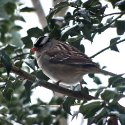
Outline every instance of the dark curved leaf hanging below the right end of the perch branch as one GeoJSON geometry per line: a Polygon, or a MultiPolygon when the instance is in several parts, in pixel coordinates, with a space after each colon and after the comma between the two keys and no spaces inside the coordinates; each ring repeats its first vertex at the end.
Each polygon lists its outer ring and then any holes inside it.
{"type": "Polygon", "coordinates": [[[70,107],[74,104],[74,102],[75,102],[75,98],[67,97],[67,98],[65,99],[65,101],[63,102],[63,109],[64,109],[67,113],[71,114],[71,112],[70,112],[70,107]]]}

